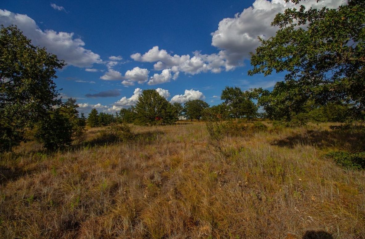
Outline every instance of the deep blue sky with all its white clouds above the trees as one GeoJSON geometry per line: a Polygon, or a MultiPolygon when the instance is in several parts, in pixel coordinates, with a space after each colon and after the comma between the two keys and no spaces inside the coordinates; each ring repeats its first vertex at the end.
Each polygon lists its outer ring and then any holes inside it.
{"type": "MultiPolygon", "coordinates": [[[[303,2],[337,7],[343,0],[303,2]]],[[[113,113],[157,89],[171,102],[219,104],[225,86],[272,89],[283,74],[248,76],[249,52],[277,30],[270,22],[295,7],[284,0],[15,1],[0,4],[0,24],[17,25],[67,67],[55,80],[79,111],[113,113]]]]}

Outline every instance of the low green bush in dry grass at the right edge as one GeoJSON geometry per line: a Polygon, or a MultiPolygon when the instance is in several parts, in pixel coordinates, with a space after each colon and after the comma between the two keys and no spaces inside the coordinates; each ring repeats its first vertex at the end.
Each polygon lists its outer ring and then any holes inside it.
{"type": "Polygon", "coordinates": [[[349,153],[344,151],[333,151],[326,154],[335,163],[345,168],[365,169],[365,152],[349,153]]]}

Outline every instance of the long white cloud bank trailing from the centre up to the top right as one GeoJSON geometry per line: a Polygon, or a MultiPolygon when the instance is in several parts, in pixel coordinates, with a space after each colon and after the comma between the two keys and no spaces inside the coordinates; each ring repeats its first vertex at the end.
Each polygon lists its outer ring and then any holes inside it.
{"type": "MultiPolygon", "coordinates": [[[[345,4],[345,0],[307,0],[300,4],[306,8],[336,8],[345,4]]],[[[185,74],[199,74],[201,72],[220,73],[230,71],[243,64],[244,59],[249,58],[249,52],[255,51],[259,46],[258,36],[268,39],[278,30],[272,27],[271,22],[278,12],[284,12],[287,8],[299,8],[285,0],[255,0],[251,7],[235,14],[233,18],[224,18],[218,24],[218,29],[211,33],[212,45],[218,48],[217,53],[201,54],[200,51],[193,55],[170,55],[165,49],[154,46],[145,53],[135,53],[130,57],[135,61],[154,63],[154,70],[163,71],[154,74],[149,85],[155,85],[176,79],[172,72],[184,72],[185,74]],[[165,72],[164,72],[165,71],[165,72]],[[169,74],[168,74],[169,73],[169,74]]]]}

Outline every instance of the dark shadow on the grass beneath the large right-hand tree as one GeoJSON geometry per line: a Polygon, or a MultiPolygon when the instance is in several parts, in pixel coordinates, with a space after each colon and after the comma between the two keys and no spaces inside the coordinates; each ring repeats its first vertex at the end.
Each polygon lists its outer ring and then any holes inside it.
{"type": "Polygon", "coordinates": [[[364,131],[341,130],[307,130],[304,133],[275,140],[271,143],[280,147],[293,148],[297,145],[312,145],[316,147],[337,147],[349,151],[365,150],[364,131]]]}

